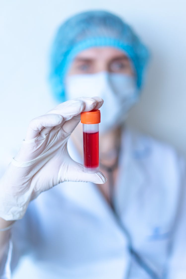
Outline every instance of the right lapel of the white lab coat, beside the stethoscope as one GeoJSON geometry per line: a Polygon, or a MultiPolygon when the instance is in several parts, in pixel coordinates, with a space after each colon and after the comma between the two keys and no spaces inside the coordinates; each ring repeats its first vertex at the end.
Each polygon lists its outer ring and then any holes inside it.
{"type": "Polygon", "coordinates": [[[142,168],[142,161],[150,154],[151,147],[144,136],[128,128],[123,129],[114,197],[115,209],[119,215],[125,212],[137,191],[146,185],[147,174],[142,168]]]}

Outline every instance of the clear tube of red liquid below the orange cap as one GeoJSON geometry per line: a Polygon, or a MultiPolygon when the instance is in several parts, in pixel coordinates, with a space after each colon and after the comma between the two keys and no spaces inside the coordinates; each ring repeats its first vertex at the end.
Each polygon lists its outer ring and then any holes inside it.
{"type": "Polygon", "coordinates": [[[99,124],[83,124],[84,172],[99,171],[99,124]]]}

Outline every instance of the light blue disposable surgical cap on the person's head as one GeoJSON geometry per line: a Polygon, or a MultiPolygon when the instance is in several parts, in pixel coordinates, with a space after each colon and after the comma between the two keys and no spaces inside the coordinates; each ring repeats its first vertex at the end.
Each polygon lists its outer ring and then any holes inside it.
{"type": "Polygon", "coordinates": [[[107,11],[87,11],[65,21],[55,36],[49,74],[55,99],[66,100],[64,80],[74,57],[84,49],[101,46],[115,47],[128,55],[136,70],[137,87],[141,88],[148,49],[118,16],[107,11]]]}

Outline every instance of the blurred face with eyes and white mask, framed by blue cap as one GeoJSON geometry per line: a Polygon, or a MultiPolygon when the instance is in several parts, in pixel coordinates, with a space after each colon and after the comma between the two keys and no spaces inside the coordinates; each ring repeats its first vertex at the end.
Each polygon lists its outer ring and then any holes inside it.
{"type": "Polygon", "coordinates": [[[71,63],[65,86],[67,99],[99,96],[104,100],[100,108],[102,134],[121,126],[137,100],[132,62],[114,47],[93,47],[80,52],[71,63]]]}

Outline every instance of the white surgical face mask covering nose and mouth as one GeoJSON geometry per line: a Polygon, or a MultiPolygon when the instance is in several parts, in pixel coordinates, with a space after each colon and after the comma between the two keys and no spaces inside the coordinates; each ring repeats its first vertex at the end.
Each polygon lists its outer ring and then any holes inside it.
{"type": "Polygon", "coordinates": [[[121,125],[139,97],[133,76],[108,72],[67,76],[65,90],[67,100],[82,96],[99,96],[104,100],[100,108],[100,133],[121,125]]]}

